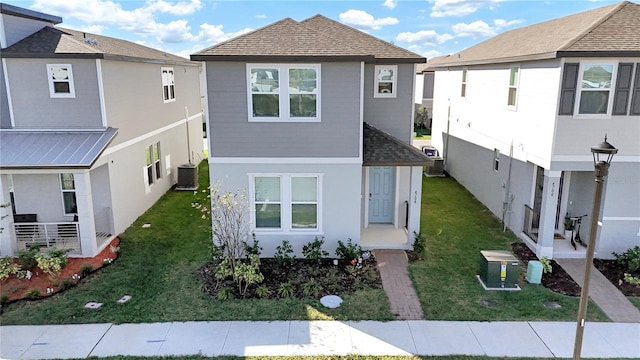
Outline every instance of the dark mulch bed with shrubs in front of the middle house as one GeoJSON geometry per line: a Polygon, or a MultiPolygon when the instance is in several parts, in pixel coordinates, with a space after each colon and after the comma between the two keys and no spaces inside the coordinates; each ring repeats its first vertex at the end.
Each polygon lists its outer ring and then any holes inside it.
{"type": "MultiPolygon", "coordinates": [[[[232,279],[219,281],[215,278],[215,263],[209,263],[199,271],[200,278],[204,283],[204,291],[214,297],[218,296],[221,289],[227,288],[233,292],[235,298],[259,298],[256,289],[259,285],[264,285],[269,290],[269,295],[262,298],[277,299],[286,296],[279,294],[282,283],[290,282],[295,298],[314,297],[307,291],[305,285],[310,281],[315,281],[319,285],[317,298],[324,295],[344,295],[353,293],[360,289],[381,289],[382,279],[378,272],[377,263],[373,255],[362,261],[359,267],[351,264],[333,264],[333,259],[322,259],[320,263],[314,263],[306,259],[293,259],[287,266],[279,266],[273,258],[260,259],[260,272],[264,275],[264,281],[258,285],[249,287],[245,294],[240,294],[237,284],[232,279]]],[[[309,288],[309,286],[307,286],[309,288]]]]}

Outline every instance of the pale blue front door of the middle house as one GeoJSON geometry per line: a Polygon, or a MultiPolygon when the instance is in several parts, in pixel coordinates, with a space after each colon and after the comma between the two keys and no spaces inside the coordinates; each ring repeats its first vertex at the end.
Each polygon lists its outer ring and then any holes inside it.
{"type": "Polygon", "coordinates": [[[392,166],[369,168],[369,222],[392,223],[395,188],[392,166]]]}

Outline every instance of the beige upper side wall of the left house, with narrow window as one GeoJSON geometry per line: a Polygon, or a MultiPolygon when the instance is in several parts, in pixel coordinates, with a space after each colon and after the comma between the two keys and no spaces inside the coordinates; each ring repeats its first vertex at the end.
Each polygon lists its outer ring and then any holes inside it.
{"type": "Polygon", "coordinates": [[[164,103],[163,65],[113,60],[101,63],[107,126],[119,129],[112,145],[183,120],[185,106],[189,116],[202,111],[200,67],[167,66],[174,69],[176,100],[164,103]]]}

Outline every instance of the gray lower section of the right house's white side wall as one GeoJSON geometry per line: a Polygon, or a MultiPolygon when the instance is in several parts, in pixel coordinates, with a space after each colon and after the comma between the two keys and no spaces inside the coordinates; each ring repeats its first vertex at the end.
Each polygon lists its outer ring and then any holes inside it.
{"type": "MultiPolygon", "coordinates": [[[[493,170],[493,150],[484,149],[451,136],[447,171],[498,218],[502,219],[502,204],[509,178],[508,154],[500,155],[498,171],[493,170]]],[[[522,232],[524,205],[531,204],[534,165],[511,161],[510,211],[505,217],[509,229],[522,232]]],[[[425,191],[429,191],[425,189],[425,191]]]]}

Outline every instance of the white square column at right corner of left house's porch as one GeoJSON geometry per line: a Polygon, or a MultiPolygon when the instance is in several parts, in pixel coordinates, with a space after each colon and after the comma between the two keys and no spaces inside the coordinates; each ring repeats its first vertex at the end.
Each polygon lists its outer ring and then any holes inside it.
{"type": "Polygon", "coordinates": [[[96,227],[93,218],[93,196],[91,194],[91,176],[89,171],[74,173],[78,222],[80,227],[80,246],[83,257],[92,257],[98,253],[96,227]]]}

